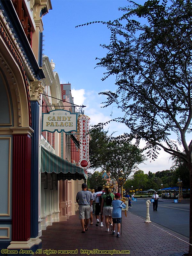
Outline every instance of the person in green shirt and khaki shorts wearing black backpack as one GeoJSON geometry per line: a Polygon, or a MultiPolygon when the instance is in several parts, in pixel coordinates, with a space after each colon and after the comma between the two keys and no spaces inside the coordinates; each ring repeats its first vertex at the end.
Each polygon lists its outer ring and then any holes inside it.
{"type": "Polygon", "coordinates": [[[110,192],[109,186],[105,186],[105,194],[102,195],[102,202],[101,202],[101,213],[105,215],[105,225],[106,230],[109,232],[109,221],[111,222],[110,228],[111,231],[113,230],[113,222],[112,222],[112,201],[114,200],[114,194],[110,192]]]}

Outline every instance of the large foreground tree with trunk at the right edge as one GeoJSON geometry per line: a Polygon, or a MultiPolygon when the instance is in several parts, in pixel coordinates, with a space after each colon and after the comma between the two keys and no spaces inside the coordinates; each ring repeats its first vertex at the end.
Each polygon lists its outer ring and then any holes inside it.
{"type": "MultiPolygon", "coordinates": [[[[108,53],[98,67],[116,76],[116,91],[107,96],[104,107],[116,104],[124,116],[114,119],[130,130],[126,137],[146,142],[148,156],[158,150],[182,159],[190,175],[189,243],[192,244],[192,3],[191,0],[148,0],[143,5],[120,8],[124,15],[101,23],[111,32],[108,53]],[[133,19],[135,17],[135,20],[133,19]],[[142,25],[138,20],[141,20],[142,25]],[[144,21],[143,21],[144,20],[144,21]],[[184,153],[170,139],[175,134],[184,153]]],[[[192,245],[189,245],[192,255],[192,245]]]]}

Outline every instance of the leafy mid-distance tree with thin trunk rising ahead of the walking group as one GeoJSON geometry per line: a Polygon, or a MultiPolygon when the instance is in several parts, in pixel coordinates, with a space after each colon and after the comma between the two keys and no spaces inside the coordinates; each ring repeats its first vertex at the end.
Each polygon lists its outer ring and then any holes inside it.
{"type": "Polygon", "coordinates": [[[108,143],[104,168],[110,172],[110,177],[117,181],[119,191],[136,166],[146,158],[135,145],[128,142],[117,143],[117,140],[113,138],[108,143]]]}

